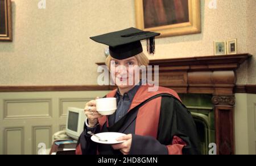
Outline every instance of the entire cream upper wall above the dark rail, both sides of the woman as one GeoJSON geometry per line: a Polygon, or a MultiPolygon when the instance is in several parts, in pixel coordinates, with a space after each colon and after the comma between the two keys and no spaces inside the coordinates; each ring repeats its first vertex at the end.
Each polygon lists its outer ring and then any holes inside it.
{"type": "MultiPolygon", "coordinates": [[[[89,37],[135,27],[134,1],[46,0],[38,9],[39,1],[12,0],[14,40],[0,42],[0,86],[97,84],[95,63],[106,46],[89,37]]],[[[201,34],[156,39],[150,59],[213,55],[214,40],[237,38],[238,53],[254,54],[238,70],[238,84],[256,84],[256,1],[217,0],[209,9],[210,1],[201,1],[201,34]]]]}

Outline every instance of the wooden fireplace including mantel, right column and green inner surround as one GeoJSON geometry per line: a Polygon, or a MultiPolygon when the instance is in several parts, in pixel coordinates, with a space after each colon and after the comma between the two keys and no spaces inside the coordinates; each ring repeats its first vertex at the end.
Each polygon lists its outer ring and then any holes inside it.
{"type": "Polygon", "coordinates": [[[234,154],[236,70],[250,57],[244,53],[150,61],[159,65],[159,85],[179,93],[192,112],[202,153],[208,153],[213,142],[217,154],[234,154]]]}

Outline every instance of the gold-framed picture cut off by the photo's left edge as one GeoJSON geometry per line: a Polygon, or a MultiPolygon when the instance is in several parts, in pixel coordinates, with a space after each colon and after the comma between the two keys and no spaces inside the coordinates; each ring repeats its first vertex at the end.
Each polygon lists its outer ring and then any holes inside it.
{"type": "Polygon", "coordinates": [[[12,41],[11,0],[0,0],[0,42],[12,41]]]}

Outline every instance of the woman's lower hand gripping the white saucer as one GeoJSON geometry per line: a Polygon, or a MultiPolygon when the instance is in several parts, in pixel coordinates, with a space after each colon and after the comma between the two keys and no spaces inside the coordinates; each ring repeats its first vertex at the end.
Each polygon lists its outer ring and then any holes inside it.
{"type": "Polygon", "coordinates": [[[121,136],[117,138],[117,141],[125,140],[123,143],[114,144],[112,147],[114,150],[120,150],[123,155],[128,155],[131,148],[131,134],[121,136]]]}

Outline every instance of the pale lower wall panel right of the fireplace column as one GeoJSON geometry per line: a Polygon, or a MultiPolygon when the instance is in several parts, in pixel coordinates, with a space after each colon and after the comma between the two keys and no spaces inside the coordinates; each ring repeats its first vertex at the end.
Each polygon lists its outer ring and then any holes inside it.
{"type": "Polygon", "coordinates": [[[256,154],[256,94],[236,94],[235,143],[237,155],[256,154]]]}

